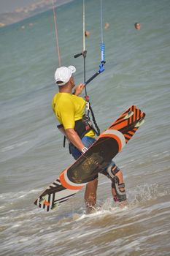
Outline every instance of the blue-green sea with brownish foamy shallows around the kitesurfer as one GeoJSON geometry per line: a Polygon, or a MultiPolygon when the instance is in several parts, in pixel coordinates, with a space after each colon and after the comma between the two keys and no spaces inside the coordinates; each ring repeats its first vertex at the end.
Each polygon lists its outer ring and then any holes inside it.
{"type": "MultiPolygon", "coordinates": [[[[128,206],[119,208],[100,175],[98,206],[85,214],[84,190],[57,211],[34,200],[74,160],[51,108],[58,91],[53,10],[0,29],[0,255],[169,255],[170,245],[170,2],[105,0],[105,71],[87,86],[101,131],[130,105],[145,123],[115,157],[128,206]],[[141,30],[134,23],[141,23],[141,30]]],[[[56,9],[61,63],[83,82],[82,1],[56,9]]],[[[85,1],[86,78],[100,64],[100,1],[85,1]]],[[[83,96],[83,95],[82,95],[83,96]]]]}

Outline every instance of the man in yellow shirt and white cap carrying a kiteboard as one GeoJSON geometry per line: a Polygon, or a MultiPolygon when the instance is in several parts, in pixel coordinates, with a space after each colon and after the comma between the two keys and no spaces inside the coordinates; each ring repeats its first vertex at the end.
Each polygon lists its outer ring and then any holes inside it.
{"type": "MultiPolygon", "coordinates": [[[[55,71],[55,83],[58,85],[58,94],[53,97],[53,111],[60,122],[59,127],[70,142],[70,151],[74,159],[78,159],[88,150],[95,139],[95,132],[92,127],[86,129],[82,122],[85,113],[85,99],[79,97],[85,85],[80,83],[74,89],[73,73],[76,68],[73,66],[59,67],[55,71]],[[72,93],[74,89],[74,93],[72,93]]],[[[112,180],[112,195],[115,201],[126,200],[123,174],[114,162],[105,170],[104,175],[112,180]],[[117,186],[115,185],[117,184],[117,186]],[[118,189],[118,190],[117,190],[118,189]]],[[[88,182],[85,188],[85,204],[88,211],[96,206],[96,191],[98,175],[93,181],[88,182]]]]}

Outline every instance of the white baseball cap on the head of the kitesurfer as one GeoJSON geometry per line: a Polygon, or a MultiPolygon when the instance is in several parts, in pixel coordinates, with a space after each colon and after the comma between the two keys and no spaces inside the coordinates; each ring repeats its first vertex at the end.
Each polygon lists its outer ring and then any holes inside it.
{"type": "Polygon", "coordinates": [[[66,83],[69,82],[74,72],[76,72],[76,68],[74,66],[59,67],[55,71],[55,75],[54,75],[55,83],[57,83],[58,86],[64,86],[66,83]]]}

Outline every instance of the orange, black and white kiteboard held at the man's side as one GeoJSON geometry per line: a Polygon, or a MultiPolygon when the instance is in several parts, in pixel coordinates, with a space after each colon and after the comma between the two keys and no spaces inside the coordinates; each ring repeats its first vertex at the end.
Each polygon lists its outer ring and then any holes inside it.
{"type": "Polygon", "coordinates": [[[144,123],[145,113],[135,105],[125,110],[93,143],[73,165],[61,172],[60,176],[50,184],[35,200],[34,204],[45,211],[57,208],[69,200],[97,173],[102,173],[112,159],[132,138],[136,130],[144,123]]]}

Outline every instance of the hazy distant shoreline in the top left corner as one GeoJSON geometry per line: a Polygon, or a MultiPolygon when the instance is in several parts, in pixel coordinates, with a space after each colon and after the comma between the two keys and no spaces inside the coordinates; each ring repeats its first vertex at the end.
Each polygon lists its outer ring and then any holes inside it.
{"type": "MultiPolygon", "coordinates": [[[[57,0],[57,7],[63,4],[67,4],[70,1],[74,0],[57,0]]],[[[56,6],[56,0],[55,0],[56,6]]],[[[31,18],[32,16],[45,12],[53,8],[52,2],[47,3],[46,0],[39,0],[35,4],[31,4],[28,7],[18,8],[14,12],[6,12],[0,13],[0,28],[4,26],[8,26],[13,23],[17,23],[21,20],[25,20],[26,18],[31,18]]]]}

